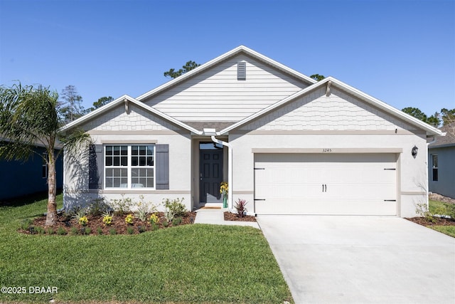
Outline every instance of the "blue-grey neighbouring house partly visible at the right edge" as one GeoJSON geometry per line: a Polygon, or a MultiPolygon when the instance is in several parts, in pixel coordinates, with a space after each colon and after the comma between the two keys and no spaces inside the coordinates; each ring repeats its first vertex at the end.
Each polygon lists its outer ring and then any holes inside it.
{"type": "Polygon", "coordinates": [[[455,122],[428,146],[429,191],[455,199],[455,122]]]}

